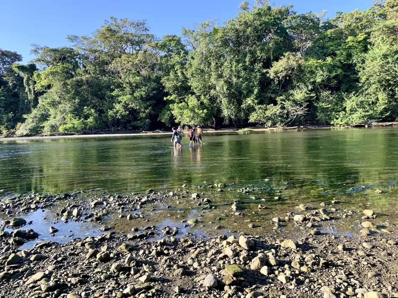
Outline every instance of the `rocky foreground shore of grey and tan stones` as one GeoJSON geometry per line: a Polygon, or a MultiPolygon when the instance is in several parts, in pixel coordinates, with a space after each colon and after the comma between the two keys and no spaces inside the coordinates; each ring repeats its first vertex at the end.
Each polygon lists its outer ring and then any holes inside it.
{"type": "MultiPolygon", "coordinates": [[[[135,195],[76,192],[3,199],[1,296],[398,297],[394,223],[379,219],[371,209],[361,213],[340,209],[339,199],[316,207],[300,204],[283,216],[262,221],[246,220],[239,201],[217,206],[217,214],[240,219],[250,233],[195,237],[177,226],[151,225],[115,232],[107,224],[110,217],[134,223],[143,209],[154,211],[158,204],[167,209],[170,201],[183,200],[207,212],[215,207],[210,198],[185,186],[174,192],[148,190],[135,195]],[[103,234],[64,244],[42,241],[21,249],[39,236],[25,215],[51,208],[56,210],[54,222],[100,223],[103,234]],[[357,231],[352,236],[325,232],[325,225],[348,219],[357,231]],[[256,230],[260,224],[269,232],[256,230]],[[295,230],[293,236],[283,233],[287,227],[295,230]]],[[[266,208],[258,205],[258,210],[266,208]]],[[[179,220],[184,226],[212,226],[216,231],[219,225],[217,219],[205,221],[200,214],[179,220]]],[[[57,232],[56,226],[49,227],[49,234],[57,232]]]]}

